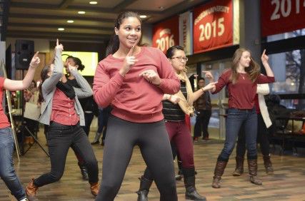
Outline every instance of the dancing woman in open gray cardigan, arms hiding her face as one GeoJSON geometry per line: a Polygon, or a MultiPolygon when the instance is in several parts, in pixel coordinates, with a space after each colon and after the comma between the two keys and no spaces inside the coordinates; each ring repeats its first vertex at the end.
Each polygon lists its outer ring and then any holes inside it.
{"type": "Polygon", "coordinates": [[[79,103],[79,98],[91,96],[92,90],[75,66],[69,65],[69,70],[76,78],[80,88],[74,88],[61,82],[64,71],[61,60],[63,48],[57,40],[54,64],[44,67],[41,71],[41,85],[39,86],[41,117],[39,121],[49,125],[48,145],[51,172],[29,182],[26,187],[26,195],[30,200],[36,199],[38,187],[60,180],[64,174],[66,155],[70,147],[78,150],[81,158],[84,158],[91,193],[96,196],[99,192],[99,168],[86,133],[81,128],[81,125],[84,125],[84,112],[79,103]]]}

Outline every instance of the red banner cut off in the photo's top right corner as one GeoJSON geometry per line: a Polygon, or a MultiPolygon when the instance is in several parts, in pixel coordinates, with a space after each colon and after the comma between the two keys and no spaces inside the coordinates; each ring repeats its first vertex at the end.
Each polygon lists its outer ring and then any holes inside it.
{"type": "Polygon", "coordinates": [[[305,28],[305,0],[261,0],[261,36],[305,28]]]}

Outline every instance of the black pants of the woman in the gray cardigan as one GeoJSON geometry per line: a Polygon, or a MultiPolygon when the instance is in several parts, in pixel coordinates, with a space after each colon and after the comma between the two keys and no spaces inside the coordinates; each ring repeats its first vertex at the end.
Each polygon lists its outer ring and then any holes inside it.
{"type": "Polygon", "coordinates": [[[41,187],[60,180],[64,174],[66,155],[70,147],[73,147],[84,158],[88,169],[89,182],[99,181],[99,168],[94,151],[89,143],[88,137],[79,124],[62,125],[52,122],[49,126],[49,155],[51,159],[51,172],[41,175],[34,180],[34,185],[41,187]]]}

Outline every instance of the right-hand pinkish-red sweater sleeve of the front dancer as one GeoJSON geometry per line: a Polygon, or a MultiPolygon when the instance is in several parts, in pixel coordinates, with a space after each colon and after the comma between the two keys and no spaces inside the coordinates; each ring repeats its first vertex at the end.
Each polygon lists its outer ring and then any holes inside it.
{"type": "MultiPolygon", "coordinates": [[[[159,50],[158,50],[159,51],[159,50]]],[[[179,78],[175,75],[174,69],[171,66],[171,63],[166,58],[164,53],[159,51],[161,63],[159,68],[159,77],[161,78],[161,84],[159,88],[164,93],[175,94],[180,90],[180,81],[179,78]]]]}

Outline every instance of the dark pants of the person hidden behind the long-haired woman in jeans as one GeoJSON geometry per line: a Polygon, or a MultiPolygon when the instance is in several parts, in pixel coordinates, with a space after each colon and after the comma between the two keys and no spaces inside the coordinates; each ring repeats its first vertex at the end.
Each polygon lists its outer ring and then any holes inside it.
{"type": "MultiPolygon", "coordinates": [[[[244,154],[246,153],[245,133],[244,128],[241,128],[239,132],[239,140],[237,140],[236,145],[236,156],[241,158],[244,158],[244,154]]],[[[259,143],[261,147],[261,153],[263,155],[269,155],[269,135],[261,113],[257,114],[257,143],[259,143]]]]}

